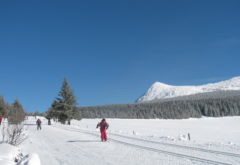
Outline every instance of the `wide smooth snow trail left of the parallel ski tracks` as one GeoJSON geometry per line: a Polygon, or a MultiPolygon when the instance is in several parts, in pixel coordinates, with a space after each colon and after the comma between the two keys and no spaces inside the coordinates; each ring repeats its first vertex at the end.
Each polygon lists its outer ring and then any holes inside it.
{"type": "MultiPolygon", "coordinates": [[[[29,138],[21,144],[23,153],[38,153],[42,165],[192,165],[188,159],[140,150],[115,142],[101,142],[97,135],[26,122],[29,138]]],[[[197,164],[200,165],[200,164],[197,164]]]]}

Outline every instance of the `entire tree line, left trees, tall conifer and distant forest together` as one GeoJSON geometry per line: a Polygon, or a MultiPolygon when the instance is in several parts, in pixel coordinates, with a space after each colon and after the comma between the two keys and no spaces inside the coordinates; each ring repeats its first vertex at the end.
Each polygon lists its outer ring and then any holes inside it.
{"type": "MultiPolygon", "coordinates": [[[[25,112],[18,100],[8,104],[0,97],[0,115],[17,123],[24,120],[25,112]]],[[[70,124],[71,119],[81,118],[184,119],[239,116],[240,91],[217,91],[143,103],[80,107],[65,78],[58,96],[44,115],[49,121],[54,119],[64,124],[70,124]]]]}

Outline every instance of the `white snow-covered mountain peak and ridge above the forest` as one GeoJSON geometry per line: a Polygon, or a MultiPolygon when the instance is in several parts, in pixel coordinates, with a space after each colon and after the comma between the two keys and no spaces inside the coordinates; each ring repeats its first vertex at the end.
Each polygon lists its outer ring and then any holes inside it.
{"type": "Polygon", "coordinates": [[[240,77],[234,77],[230,80],[199,86],[172,86],[161,82],[155,82],[143,96],[137,99],[137,102],[173,98],[178,96],[221,90],[240,90],[240,77]]]}

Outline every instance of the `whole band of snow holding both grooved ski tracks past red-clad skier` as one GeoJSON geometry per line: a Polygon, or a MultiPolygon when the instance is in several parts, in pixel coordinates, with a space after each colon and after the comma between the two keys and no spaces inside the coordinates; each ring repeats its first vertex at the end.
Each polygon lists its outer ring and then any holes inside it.
{"type": "MultiPolygon", "coordinates": [[[[99,138],[99,133],[89,130],[83,130],[79,128],[70,128],[63,126],[54,126],[60,129],[65,129],[68,131],[76,131],[83,134],[92,135],[99,138]]],[[[145,139],[140,139],[136,137],[124,136],[115,133],[108,133],[109,139],[112,142],[157,152],[160,154],[170,155],[173,157],[178,157],[182,159],[191,160],[193,163],[200,164],[218,164],[218,165],[231,165],[231,164],[240,164],[240,154],[208,150],[198,147],[182,146],[171,143],[163,143],[157,141],[150,141],[145,139]]]]}

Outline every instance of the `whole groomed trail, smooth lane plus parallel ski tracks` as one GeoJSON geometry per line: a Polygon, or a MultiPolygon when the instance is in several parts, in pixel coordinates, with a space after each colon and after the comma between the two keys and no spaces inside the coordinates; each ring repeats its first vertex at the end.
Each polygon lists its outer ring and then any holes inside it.
{"type": "Polygon", "coordinates": [[[101,142],[99,132],[53,124],[26,124],[29,138],[22,144],[24,152],[37,152],[42,164],[240,164],[240,154],[184,146],[108,133],[101,142]],[[43,159],[44,158],[44,159],[43,159]]]}

